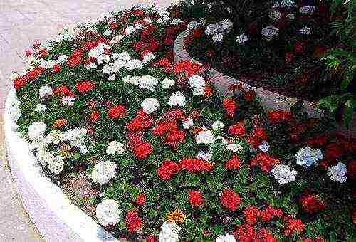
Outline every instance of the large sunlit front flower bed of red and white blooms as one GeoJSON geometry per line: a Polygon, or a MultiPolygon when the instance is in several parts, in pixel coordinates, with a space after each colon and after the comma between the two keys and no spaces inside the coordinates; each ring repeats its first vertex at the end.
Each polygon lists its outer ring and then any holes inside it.
{"type": "Polygon", "coordinates": [[[219,94],[174,63],[185,27],[135,6],[26,51],[13,115],[43,171],[88,174],[93,219],[129,241],[355,238],[356,142],[241,85],[219,94]]]}

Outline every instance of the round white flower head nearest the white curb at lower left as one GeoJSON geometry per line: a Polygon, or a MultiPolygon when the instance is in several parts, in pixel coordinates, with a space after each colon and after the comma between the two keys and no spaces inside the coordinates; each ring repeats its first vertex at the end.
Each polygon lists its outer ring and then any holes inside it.
{"type": "Polygon", "coordinates": [[[99,223],[106,227],[119,223],[121,213],[119,203],[113,199],[107,199],[96,206],[95,214],[99,223]]]}

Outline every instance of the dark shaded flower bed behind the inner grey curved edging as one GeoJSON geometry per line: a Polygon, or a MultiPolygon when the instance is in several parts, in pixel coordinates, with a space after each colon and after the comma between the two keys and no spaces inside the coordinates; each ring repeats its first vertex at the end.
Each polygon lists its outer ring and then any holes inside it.
{"type": "MultiPolygon", "coordinates": [[[[216,1],[173,8],[187,23],[194,21],[187,38],[190,56],[232,78],[292,98],[316,101],[340,93],[340,73],[329,75],[320,60],[330,48],[342,46],[331,28],[330,3],[250,2],[237,2],[237,13],[228,7],[233,4],[216,1]]],[[[334,11],[342,19],[342,9],[334,11]]]]}

